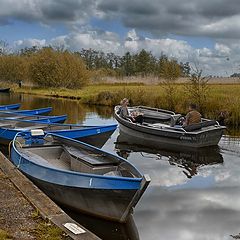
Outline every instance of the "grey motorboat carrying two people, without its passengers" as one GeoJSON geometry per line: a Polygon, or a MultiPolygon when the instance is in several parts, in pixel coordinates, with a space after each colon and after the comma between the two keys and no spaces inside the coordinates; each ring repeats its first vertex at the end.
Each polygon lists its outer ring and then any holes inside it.
{"type": "MultiPolygon", "coordinates": [[[[119,116],[118,110],[120,106],[115,107],[114,116],[119,123],[120,131],[123,133],[135,137],[141,145],[146,142],[151,143],[152,147],[159,146],[179,146],[179,147],[207,147],[217,145],[220,141],[225,126],[220,126],[215,120],[202,119],[201,123],[192,124],[186,127],[176,125],[176,120],[180,117],[179,114],[171,114],[169,121],[166,113],[164,119],[164,113],[161,113],[159,119],[155,118],[154,122],[149,121],[149,113],[144,115],[144,121],[142,124],[131,122],[128,119],[124,119],[119,116]]],[[[133,111],[130,108],[130,111],[133,111]]]]}

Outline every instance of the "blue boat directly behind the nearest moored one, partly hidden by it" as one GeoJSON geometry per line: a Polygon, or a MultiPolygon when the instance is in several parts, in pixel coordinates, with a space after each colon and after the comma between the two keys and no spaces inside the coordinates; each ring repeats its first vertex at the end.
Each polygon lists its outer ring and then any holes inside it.
{"type": "Polygon", "coordinates": [[[31,131],[32,129],[43,129],[60,136],[81,139],[94,146],[102,147],[116,130],[117,124],[105,126],[82,126],[78,124],[58,124],[29,121],[22,119],[4,120],[0,119],[0,143],[8,144],[19,132],[31,131]]]}

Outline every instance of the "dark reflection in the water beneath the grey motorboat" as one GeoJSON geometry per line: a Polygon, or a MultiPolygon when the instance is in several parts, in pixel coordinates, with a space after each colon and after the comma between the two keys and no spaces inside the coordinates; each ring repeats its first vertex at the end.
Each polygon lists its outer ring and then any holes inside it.
{"type": "Polygon", "coordinates": [[[146,141],[146,145],[141,145],[138,140],[126,133],[120,131],[115,142],[116,153],[124,158],[128,158],[131,153],[140,152],[144,159],[153,158],[156,160],[168,161],[170,165],[176,165],[183,169],[183,173],[187,178],[197,175],[198,168],[205,165],[213,165],[223,163],[223,157],[218,146],[203,148],[184,148],[184,147],[168,147],[154,146],[151,142],[146,141]]]}

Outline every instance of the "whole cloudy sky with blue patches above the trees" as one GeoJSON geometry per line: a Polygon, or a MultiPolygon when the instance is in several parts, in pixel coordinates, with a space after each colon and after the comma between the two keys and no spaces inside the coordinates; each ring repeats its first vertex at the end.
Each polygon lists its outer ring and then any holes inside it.
{"type": "Polygon", "coordinates": [[[239,0],[0,0],[0,6],[0,40],[12,51],[145,49],[206,75],[240,72],[239,0]]]}

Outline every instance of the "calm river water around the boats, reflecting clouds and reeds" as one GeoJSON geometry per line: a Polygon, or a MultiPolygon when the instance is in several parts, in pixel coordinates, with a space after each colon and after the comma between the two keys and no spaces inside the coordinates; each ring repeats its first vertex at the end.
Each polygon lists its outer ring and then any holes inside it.
{"type": "MultiPolygon", "coordinates": [[[[30,95],[0,95],[0,104],[22,109],[52,106],[68,123],[116,123],[109,107],[30,95]]],[[[201,151],[149,149],[124,143],[118,130],[103,146],[133,163],[152,181],[133,217],[116,224],[68,213],[102,239],[221,240],[240,232],[240,138],[224,136],[218,147],[201,151]]]]}

